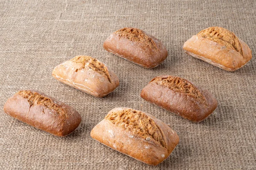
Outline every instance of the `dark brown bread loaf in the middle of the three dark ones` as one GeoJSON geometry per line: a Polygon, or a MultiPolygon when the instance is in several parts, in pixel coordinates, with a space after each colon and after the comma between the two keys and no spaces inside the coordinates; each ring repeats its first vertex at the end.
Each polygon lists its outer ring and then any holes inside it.
{"type": "Polygon", "coordinates": [[[206,119],[217,107],[217,100],[209,91],[175,76],[155,77],[140,96],[193,122],[206,119]]]}

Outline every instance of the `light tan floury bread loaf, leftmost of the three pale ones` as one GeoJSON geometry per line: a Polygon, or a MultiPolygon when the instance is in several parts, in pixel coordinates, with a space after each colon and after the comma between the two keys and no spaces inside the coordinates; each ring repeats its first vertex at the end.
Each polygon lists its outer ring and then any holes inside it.
{"type": "Polygon", "coordinates": [[[89,56],[76,56],[57,65],[52,76],[87,94],[104,97],[115,90],[119,79],[104,63],[89,56]]]}

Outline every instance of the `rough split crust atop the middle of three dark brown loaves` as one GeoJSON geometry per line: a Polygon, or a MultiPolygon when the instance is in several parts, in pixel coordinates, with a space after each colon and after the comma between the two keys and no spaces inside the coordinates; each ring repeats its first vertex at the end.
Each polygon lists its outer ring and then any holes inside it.
{"type": "Polygon", "coordinates": [[[187,94],[199,101],[203,102],[206,105],[206,99],[204,95],[198,90],[195,85],[182,79],[180,77],[155,77],[151,82],[157,83],[157,85],[162,85],[165,88],[169,88],[172,91],[187,94]]]}

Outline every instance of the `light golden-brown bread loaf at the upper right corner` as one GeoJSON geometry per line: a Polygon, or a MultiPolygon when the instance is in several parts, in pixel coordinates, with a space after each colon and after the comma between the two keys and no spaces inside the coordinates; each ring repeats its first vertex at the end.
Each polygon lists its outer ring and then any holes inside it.
{"type": "Polygon", "coordinates": [[[187,40],[184,51],[226,71],[236,71],[251,58],[252,51],[236,35],[221,27],[209,27],[187,40]]]}

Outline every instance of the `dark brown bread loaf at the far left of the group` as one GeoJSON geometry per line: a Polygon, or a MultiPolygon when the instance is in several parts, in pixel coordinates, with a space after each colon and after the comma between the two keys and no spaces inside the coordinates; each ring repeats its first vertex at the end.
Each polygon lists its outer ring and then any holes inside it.
{"type": "Polygon", "coordinates": [[[81,122],[72,107],[34,90],[17,92],[5,103],[3,110],[10,116],[55,136],[66,136],[81,122]]]}

